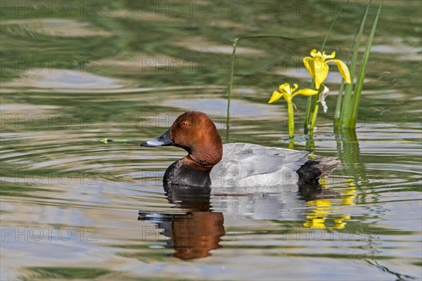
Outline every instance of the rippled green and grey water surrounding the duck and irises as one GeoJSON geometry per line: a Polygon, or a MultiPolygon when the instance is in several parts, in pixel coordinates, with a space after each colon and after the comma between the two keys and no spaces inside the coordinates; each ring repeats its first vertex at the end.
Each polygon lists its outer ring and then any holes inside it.
{"type": "Polygon", "coordinates": [[[314,143],[295,98],[295,149],[342,161],[321,190],[169,202],[162,176],[185,152],[139,147],[200,110],[225,142],[288,148],[271,93],[310,84],[302,57],[342,6],[325,50],[347,61],[365,5],[1,1],[0,279],[421,279],[420,1],[384,3],[356,133],[333,132],[335,68],[314,143]],[[241,41],[227,134],[231,40],[250,35],[301,41],[241,41]]]}

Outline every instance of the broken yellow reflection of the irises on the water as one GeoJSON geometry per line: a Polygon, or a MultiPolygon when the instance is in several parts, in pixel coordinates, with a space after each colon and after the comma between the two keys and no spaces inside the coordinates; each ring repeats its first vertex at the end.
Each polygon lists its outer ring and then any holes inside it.
{"type": "MultiPolygon", "coordinates": [[[[322,181],[324,183],[324,181],[322,181]]],[[[324,184],[322,184],[324,185],[324,184]]],[[[354,183],[350,183],[350,186],[347,188],[347,191],[343,195],[341,204],[343,206],[354,205],[354,197],[356,197],[356,188],[354,183]]],[[[333,199],[317,199],[307,202],[307,207],[311,209],[310,214],[307,214],[306,221],[303,223],[303,226],[307,228],[326,228],[326,220],[328,216],[338,216],[338,211],[340,207],[333,207],[333,199]]],[[[335,218],[334,226],[335,229],[345,228],[347,220],[350,220],[350,214],[340,214],[338,218],[335,218]]]]}

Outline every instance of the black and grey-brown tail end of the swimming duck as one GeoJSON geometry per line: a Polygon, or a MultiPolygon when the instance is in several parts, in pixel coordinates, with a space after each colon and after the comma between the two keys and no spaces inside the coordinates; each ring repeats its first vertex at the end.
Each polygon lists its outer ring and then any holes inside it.
{"type": "Polygon", "coordinates": [[[317,184],[319,178],[324,176],[340,165],[336,157],[315,157],[309,159],[298,169],[299,181],[301,183],[317,184]]]}

